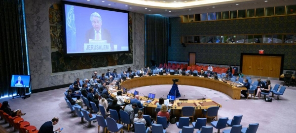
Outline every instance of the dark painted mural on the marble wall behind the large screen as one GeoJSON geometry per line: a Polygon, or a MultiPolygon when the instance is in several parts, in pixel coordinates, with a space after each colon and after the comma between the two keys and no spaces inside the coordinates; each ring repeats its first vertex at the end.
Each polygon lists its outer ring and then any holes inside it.
{"type": "Polygon", "coordinates": [[[131,53],[63,56],[64,27],[62,4],[53,4],[49,7],[49,25],[52,73],[133,63],[132,14],[129,15],[131,53]]]}

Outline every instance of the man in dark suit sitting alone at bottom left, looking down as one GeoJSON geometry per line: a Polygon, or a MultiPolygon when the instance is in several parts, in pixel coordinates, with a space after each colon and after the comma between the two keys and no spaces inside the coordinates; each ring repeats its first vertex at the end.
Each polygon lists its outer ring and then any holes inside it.
{"type": "Polygon", "coordinates": [[[51,121],[48,121],[48,122],[45,122],[44,124],[42,124],[38,133],[60,133],[61,132],[60,128],[58,128],[55,131],[53,130],[53,125],[56,125],[58,122],[59,122],[58,117],[52,118],[51,121]]]}

